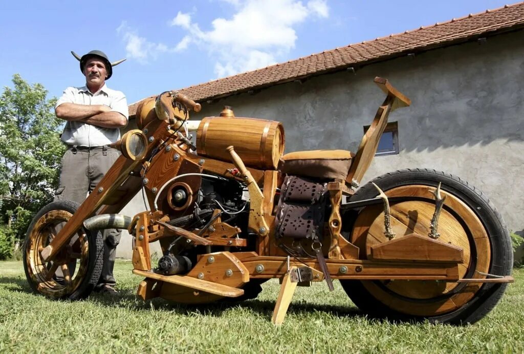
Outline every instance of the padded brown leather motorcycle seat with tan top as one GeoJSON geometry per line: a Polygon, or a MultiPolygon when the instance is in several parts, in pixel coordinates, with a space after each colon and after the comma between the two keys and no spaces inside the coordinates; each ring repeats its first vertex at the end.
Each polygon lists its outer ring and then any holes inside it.
{"type": "Polygon", "coordinates": [[[354,156],[346,150],[295,151],[280,158],[278,170],[290,175],[345,180],[354,156]]]}

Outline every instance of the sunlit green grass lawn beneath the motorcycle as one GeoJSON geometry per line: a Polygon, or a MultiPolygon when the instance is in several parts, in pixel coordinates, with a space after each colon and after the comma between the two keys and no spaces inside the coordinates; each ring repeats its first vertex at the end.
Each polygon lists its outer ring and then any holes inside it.
{"type": "Polygon", "coordinates": [[[465,327],[368,319],[338,282],[332,293],[325,283],[299,287],[275,327],[276,280],[256,300],[196,307],[141,301],[131,269],[117,262],[117,297],[68,302],[32,294],[22,263],[0,262],[0,353],[524,351],[524,269],[487,317],[465,327]]]}

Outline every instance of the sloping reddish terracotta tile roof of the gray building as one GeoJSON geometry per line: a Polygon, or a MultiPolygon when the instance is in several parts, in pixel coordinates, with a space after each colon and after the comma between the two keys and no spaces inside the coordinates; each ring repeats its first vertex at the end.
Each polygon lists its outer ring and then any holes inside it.
{"type": "MultiPolygon", "coordinates": [[[[520,28],[524,28],[524,2],[326,50],[179,91],[195,101],[202,102],[520,28]]],[[[139,103],[140,101],[129,105],[130,116],[135,115],[139,103]]]]}

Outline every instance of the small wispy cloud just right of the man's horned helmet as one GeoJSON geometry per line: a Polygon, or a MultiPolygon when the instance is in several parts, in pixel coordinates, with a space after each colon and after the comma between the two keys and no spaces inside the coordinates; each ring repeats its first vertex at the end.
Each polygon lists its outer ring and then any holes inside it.
{"type": "Polygon", "coordinates": [[[138,36],[127,26],[126,21],[123,21],[116,31],[126,42],[126,57],[136,59],[141,64],[146,64],[149,59],[156,59],[159,54],[169,51],[169,48],[163,43],[150,42],[138,36]]]}

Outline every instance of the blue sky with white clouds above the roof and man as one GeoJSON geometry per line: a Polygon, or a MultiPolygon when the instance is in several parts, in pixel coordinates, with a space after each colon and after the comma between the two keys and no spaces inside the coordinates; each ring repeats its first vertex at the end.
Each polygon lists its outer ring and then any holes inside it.
{"type": "MultiPolygon", "coordinates": [[[[166,90],[504,6],[507,0],[3,1],[0,86],[49,97],[85,81],[73,50],[104,51],[128,103],[166,90]],[[103,5],[102,5],[103,4],[103,5]]],[[[514,2],[510,2],[512,4],[514,2]]]]}

